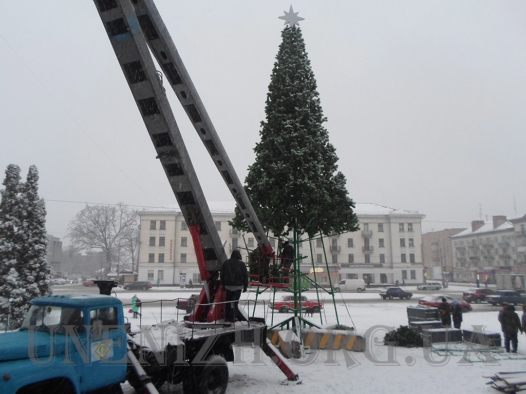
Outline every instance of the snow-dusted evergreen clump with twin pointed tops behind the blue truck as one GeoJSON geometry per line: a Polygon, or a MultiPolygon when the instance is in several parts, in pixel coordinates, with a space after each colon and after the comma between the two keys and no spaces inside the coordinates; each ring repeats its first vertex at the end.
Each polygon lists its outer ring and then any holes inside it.
{"type": "Polygon", "coordinates": [[[38,197],[38,171],[29,168],[21,183],[20,168],[9,164],[0,193],[0,322],[22,323],[28,301],[49,294],[44,201],[38,197]],[[17,289],[17,291],[14,291],[17,289]]]}

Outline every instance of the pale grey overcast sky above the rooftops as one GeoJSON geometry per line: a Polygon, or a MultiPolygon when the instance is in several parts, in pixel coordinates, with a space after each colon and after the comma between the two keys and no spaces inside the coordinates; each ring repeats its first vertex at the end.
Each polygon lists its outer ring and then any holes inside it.
{"type": "MultiPolygon", "coordinates": [[[[243,180],[290,3],[156,4],[243,180]]],[[[292,6],[353,200],[425,214],[423,232],[526,213],[526,2],[292,6]]],[[[1,178],[37,165],[50,234],[83,202],[175,203],[92,2],[2,0],[0,87],[1,178]]],[[[171,102],[208,201],[232,200],[171,102]]]]}

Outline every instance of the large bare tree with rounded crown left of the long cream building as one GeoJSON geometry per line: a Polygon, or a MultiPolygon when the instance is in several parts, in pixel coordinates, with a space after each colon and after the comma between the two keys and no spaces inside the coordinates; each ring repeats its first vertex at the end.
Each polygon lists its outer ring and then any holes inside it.
{"type": "Polygon", "coordinates": [[[68,236],[85,250],[100,249],[105,255],[107,272],[112,269],[116,248],[124,234],[137,227],[137,213],[123,203],[86,205],[69,223],[68,236]]]}

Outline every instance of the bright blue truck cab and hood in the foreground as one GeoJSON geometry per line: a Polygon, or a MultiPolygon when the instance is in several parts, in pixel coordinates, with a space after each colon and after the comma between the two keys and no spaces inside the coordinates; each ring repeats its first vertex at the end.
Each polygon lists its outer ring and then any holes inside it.
{"type": "Polygon", "coordinates": [[[22,327],[0,334],[0,393],[84,393],[126,380],[122,302],[98,295],[31,301],[22,327]]]}

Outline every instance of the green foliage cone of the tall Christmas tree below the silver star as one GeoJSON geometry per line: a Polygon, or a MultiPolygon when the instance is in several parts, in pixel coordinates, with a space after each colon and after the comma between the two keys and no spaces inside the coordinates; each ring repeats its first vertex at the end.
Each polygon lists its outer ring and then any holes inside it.
{"type": "MultiPolygon", "coordinates": [[[[274,234],[347,232],[358,229],[345,176],[329,142],[317,84],[301,30],[287,26],[270,79],[266,120],[256,160],[245,179],[262,225],[274,234]]],[[[234,225],[247,230],[236,209],[234,225]]],[[[297,238],[296,238],[297,239],[297,238]]]]}

